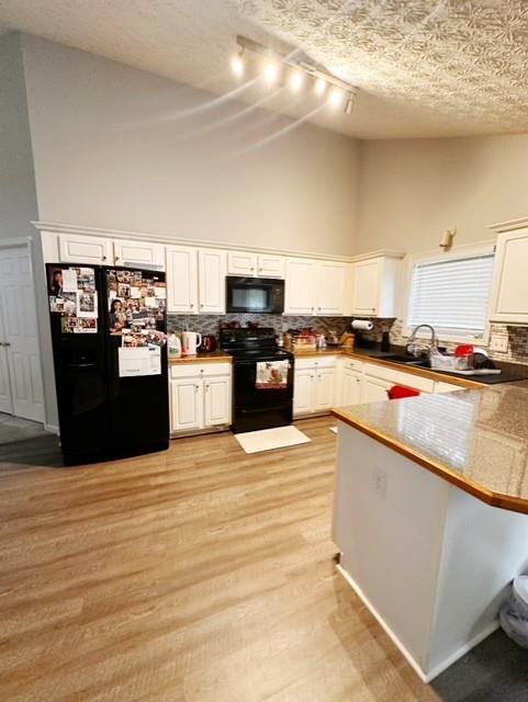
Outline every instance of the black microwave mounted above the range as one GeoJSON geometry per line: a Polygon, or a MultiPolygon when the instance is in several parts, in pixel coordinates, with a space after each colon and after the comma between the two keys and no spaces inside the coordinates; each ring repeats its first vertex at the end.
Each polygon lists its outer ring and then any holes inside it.
{"type": "Polygon", "coordinates": [[[284,312],[284,281],[276,278],[238,278],[227,275],[226,312],[267,313],[284,312]]]}

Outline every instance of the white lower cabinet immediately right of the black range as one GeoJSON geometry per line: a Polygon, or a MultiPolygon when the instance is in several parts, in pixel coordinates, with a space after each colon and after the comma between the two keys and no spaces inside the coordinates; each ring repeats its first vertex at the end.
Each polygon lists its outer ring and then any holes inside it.
{"type": "Polygon", "coordinates": [[[335,405],[336,356],[295,359],[293,414],[328,411],[335,405]]]}

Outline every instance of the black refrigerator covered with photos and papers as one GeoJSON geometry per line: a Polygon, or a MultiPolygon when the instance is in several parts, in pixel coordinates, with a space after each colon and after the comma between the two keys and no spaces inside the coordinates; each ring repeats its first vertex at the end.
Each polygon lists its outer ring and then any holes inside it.
{"type": "Polygon", "coordinates": [[[169,446],[164,272],[46,265],[66,465],[169,446]]]}

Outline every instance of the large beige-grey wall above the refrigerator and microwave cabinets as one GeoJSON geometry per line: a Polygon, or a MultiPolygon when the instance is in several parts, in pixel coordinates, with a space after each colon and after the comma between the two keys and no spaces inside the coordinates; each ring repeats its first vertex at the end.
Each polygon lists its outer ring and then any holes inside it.
{"type": "Polygon", "coordinates": [[[41,219],[351,253],[353,139],[305,123],[258,146],[291,120],[192,111],[213,98],[32,36],[23,47],[41,219]]]}

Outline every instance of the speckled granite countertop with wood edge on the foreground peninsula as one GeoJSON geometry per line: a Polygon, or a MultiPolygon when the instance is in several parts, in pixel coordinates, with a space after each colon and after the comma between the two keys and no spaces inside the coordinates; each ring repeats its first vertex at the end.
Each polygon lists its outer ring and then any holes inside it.
{"type": "Polygon", "coordinates": [[[528,513],[528,389],[503,384],[333,409],[474,497],[528,513]]]}

